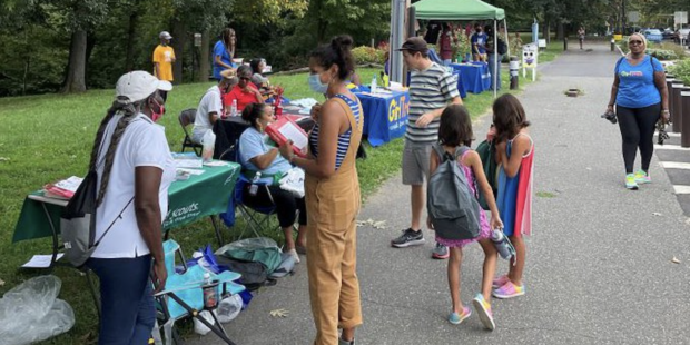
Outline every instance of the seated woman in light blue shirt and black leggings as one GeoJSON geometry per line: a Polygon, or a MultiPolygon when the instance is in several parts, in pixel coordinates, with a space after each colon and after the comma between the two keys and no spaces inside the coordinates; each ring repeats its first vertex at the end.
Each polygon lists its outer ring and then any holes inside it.
{"type": "Polygon", "coordinates": [[[275,205],[278,215],[278,223],[285,235],[285,247],[283,252],[288,253],[299,263],[297,250],[306,250],[306,224],[307,213],[303,198],[295,198],[292,193],[284,190],[277,184],[273,184],[274,176],[287,172],[293,166],[283,158],[277,147],[272,147],[266,142],[267,136],[264,129],[274,121],[273,107],[266,103],[249,103],[241,112],[241,118],[250,124],[239,137],[239,160],[243,169],[249,176],[257,171],[262,172],[262,183],[268,184],[260,186],[256,196],[249,195],[249,186],[244,190],[244,200],[247,206],[269,207],[275,205]],[[273,200],[273,201],[272,201],[273,200]],[[293,240],[293,225],[295,224],[295,211],[299,210],[299,229],[297,240],[293,240]]]}

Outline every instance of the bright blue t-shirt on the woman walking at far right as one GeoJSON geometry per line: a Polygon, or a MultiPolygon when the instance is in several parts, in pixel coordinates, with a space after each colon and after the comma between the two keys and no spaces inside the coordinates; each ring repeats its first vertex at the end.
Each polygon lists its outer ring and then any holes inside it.
{"type": "Polygon", "coordinates": [[[660,102],[661,95],[654,85],[654,71],[663,72],[663,66],[650,56],[645,56],[635,66],[622,58],[615,69],[619,79],[615,103],[625,108],[644,108],[660,102]]]}

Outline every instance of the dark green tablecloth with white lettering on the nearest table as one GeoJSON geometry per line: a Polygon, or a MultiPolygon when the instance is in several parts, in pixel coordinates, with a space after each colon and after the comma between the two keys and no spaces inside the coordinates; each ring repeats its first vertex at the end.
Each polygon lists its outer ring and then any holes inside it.
{"type": "MultiPolygon", "coordinates": [[[[240,166],[227,162],[225,167],[204,167],[204,174],[193,175],[188,180],[174,181],[168,189],[168,215],[162,224],[165,230],[187,225],[199,218],[218,215],[227,210],[228,199],[235,190],[240,166]]],[[[42,191],[32,193],[42,195],[42,191]]],[[[60,233],[62,206],[41,203],[30,198],[24,204],[14,227],[12,241],[52,236],[50,224],[43,211],[47,206],[52,224],[60,233]]]]}

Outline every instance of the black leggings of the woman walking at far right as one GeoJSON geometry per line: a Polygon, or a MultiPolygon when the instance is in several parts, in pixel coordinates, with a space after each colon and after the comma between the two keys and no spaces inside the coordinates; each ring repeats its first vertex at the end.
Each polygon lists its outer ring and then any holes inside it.
{"type": "Polygon", "coordinates": [[[623,161],[625,174],[632,174],[634,158],[640,148],[642,170],[649,171],[649,162],[654,152],[654,130],[661,115],[661,103],[644,108],[615,107],[618,126],[623,137],[623,161]]]}

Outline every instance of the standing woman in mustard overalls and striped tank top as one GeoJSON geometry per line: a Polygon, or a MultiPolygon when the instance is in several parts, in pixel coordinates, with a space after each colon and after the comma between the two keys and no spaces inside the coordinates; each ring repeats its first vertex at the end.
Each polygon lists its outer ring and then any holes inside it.
{"type": "Polygon", "coordinates": [[[315,345],[354,344],[362,324],[356,274],[356,225],[359,181],[355,155],[364,117],[346,80],[354,71],[353,40],[338,36],[312,52],[309,86],[328,100],[312,109],[316,126],[309,156],[295,157],[290,142],[280,154],[306,172],[307,269],[316,325],[315,345]],[[338,336],[338,328],[343,329],[338,336]]]}

